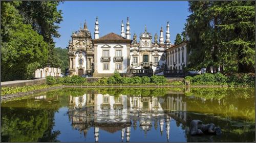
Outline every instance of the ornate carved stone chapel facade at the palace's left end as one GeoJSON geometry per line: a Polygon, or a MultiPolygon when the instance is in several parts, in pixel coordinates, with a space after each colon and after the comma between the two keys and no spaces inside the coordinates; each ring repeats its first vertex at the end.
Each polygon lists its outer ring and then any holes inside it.
{"type": "Polygon", "coordinates": [[[72,34],[69,41],[69,72],[70,75],[92,74],[94,63],[94,45],[92,36],[84,22],[83,29],[72,34]]]}

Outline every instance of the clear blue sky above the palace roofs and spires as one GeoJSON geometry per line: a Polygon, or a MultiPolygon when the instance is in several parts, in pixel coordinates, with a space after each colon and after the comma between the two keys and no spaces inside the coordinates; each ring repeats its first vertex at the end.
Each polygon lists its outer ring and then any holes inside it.
{"type": "MultiPolygon", "coordinates": [[[[170,24],[170,41],[174,43],[177,33],[181,33],[189,15],[187,1],[66,1],[60,3],[63,21],[59,24],[60,38],[55,38],[56,47],[66,48],[71,40],[72,32],[79,30],[87,21],[88,28],[94,38],[96,16],[99,18],[100,37],[108,33],[121,33],[121,20],[126,24],[126,17],[130,18],[132,37],[147,32],[152,36],[160,35],[163,26],[164,38],[166,22],[170,24]]],[[[126,27],[126,25],[125,25],[126,27]]],[[[153,39],[154,40],[154,39],[153,39]]]]}

